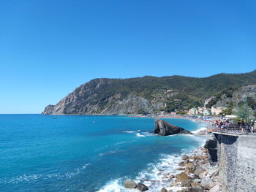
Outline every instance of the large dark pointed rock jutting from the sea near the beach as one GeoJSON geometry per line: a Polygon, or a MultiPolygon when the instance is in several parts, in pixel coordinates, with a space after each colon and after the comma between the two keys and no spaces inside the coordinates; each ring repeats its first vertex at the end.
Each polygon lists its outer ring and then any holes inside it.
{"type": "Polygon", "coordinates": [[[173,126],[162,119],[155,119],[154,133],[162,136],[171,134],[192,134],[192,132],[178,126],[173,126]]]}

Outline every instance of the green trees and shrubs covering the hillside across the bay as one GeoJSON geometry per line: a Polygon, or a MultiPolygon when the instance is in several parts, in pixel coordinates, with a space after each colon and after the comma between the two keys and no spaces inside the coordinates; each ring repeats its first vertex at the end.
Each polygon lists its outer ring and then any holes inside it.
{"type": "MultiPolygon", "coordinates": [[[[247,74],[217,74],[211,77],[136,77],[129,79],[94,79],[76,88],[72,96],[75,103],[69,102],[64,106],[66,114],[83,114],[94,106],[94,112],[100,113],[106,107],[111,107],[117,101],[127,99],[127,96],[139,96],[146,99],[149,104],[165,104],[163,109],[154,108],[154,112],[189,110],[192,107],[203,105],[205,99],[215,96],[207,107],[211,107],[225,94],[232,96],[236,88],[244,85],[256,84],[256,70],[247,74]]],[[[249,105],[255,107],[253,99],[248,100],[249,105]]],[[[146,109],[137,109],[138,113],[146,109]]],[[[136,112],[136,111],[135,111],[136,112]]],[[[230,113],[230,111],[227,111],[230,113]]]]}

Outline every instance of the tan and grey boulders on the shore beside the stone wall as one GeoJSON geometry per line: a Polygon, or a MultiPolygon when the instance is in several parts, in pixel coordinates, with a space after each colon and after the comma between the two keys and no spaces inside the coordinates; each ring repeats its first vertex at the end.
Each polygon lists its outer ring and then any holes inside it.
{"type": "MultiPolygon", "coordinates": [[[[159,170],[162,174],[162,181],[170,183],[169,187],[159,192],[221,192],[219,184],[218,167],[211,165],[208,161],[208,150],[200,147],[193,150],[192,155],[183,155],[178,164],[177,174],[159,170]]],[[[150,186],[143,183],[135,183],[133,180],[124,182],[125,188],[137,188],[138,191],[148,191],[150,186]]]]}

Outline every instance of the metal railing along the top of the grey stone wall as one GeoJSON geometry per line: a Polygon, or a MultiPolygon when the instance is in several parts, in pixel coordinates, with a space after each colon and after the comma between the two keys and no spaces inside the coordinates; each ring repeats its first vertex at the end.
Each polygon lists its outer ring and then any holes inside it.
{"type": "Polygon", "coordinates": [[[251,126],[213,126],[212,131],[226,134],[253,134],[256,135],[256,129],[251,126]]]}

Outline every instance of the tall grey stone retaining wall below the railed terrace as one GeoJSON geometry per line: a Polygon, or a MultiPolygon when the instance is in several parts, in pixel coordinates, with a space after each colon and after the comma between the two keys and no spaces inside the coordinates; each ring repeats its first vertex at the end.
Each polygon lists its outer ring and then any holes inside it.
{"type": "Polygon", "coordinates": [[[215,134],[219,182],[225,192],[256,191],[256,136],[215,134]]]}

